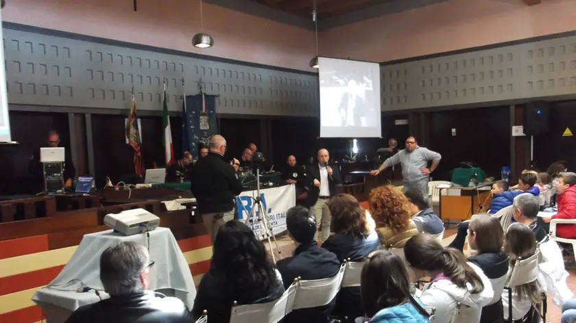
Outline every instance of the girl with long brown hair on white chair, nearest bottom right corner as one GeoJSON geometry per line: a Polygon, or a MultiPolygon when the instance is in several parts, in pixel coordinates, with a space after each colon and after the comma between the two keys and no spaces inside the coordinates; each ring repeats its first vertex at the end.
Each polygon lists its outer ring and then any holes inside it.
{"type": "MultiPolygon", "coordinates": [[[[506,232],[506,240],[504,243],[504,251],[508,254],[510,261],[510,272],[516,264],[516,261],[521,259],[528,259],[536,253],[536,236],[533,231],[520,223],[510,225],[506,232]]],[[[508,277],[509,279],[509,277],[508,277]]],[[[542,301],[542,288],[538,283],[538,279],[516,286],[512,289],[512,319],[523,320],[529,313],[532,304],[538,304],[542,301]]],[[[502,304],[504,307],[504,319],[508,320],[508,307],[509,298],[506,289],[502,292],[502,304]]]]}

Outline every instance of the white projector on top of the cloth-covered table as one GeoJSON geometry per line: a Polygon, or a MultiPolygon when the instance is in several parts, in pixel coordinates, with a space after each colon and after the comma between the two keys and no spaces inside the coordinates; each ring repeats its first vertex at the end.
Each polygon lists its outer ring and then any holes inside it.
{"type": "Polygon", "coordinates": [[[159,227],[160,218],[145,209],[129,209],[119,214],[107,214],[104,224],[123,235],[135,235],[159,227]]]}

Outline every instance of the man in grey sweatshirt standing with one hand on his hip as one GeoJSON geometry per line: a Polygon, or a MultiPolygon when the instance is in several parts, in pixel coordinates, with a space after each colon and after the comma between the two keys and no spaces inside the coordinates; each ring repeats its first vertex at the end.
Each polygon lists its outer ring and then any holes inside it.
{"type": "Polygon", "coordinates": [[[402,166],[404,191],[411,188],[427,196],[430,173],[440,164],[441,158],[442,156],[439,153],[418,146],[416,138],[408,137],[405,149],[386,159],[378,169],[372,170],[370,174],[379,175],[386,168],[400,164],[402,166]],[[430,168],[428,168],[429,161],[432,161],[430,168]]]}

